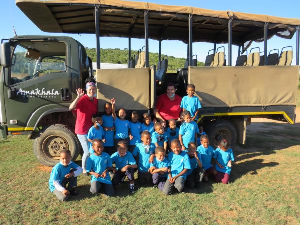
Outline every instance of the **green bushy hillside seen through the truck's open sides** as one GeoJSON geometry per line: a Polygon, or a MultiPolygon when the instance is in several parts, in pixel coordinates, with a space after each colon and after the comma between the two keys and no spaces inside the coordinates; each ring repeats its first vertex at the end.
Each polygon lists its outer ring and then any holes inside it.
{"type": "MultiPolygon", "coordinates": [[[[96,62],[96,49],[95,48],[86,48],[87,55],[92,59],[93,62],[96,62]]],[[[137,51],[131,50],[131,56],[137,55],[137,51]]],[[[161,55],[161,58],[163,55],[161,55]]],[[[158,62],[158,53],[149,52],[150,65],[157,65],[158,62]]],[[[173,56],[168,56],[168,70],[177,70],[178,68],[183,68],[185,58],[176,58],[173,56]]],[[[102,63],[115,63],[115,64],[127,64],[128,62],[128,49],[125,48],[121,50],[116,49],[102,49],[101,48],[101,62],[102,63]]],[[[203,62],[198,62],[198,66],[204,66],[203,62]]]]}

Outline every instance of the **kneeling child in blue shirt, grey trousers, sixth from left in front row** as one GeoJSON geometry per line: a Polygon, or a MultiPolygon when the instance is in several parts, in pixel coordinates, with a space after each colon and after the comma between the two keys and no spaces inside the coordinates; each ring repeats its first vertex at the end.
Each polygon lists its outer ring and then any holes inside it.
{"type": "Polygon", "coordinates": [[[188,154],[181,150],[180,142],[174,139],[171,142],[171,149],[167,156],[170,168],[168,169],[168,179],[163,187],[163,193],[170,195],[174,187],[182,192],[188,169],[191,169],[188,154]]]}

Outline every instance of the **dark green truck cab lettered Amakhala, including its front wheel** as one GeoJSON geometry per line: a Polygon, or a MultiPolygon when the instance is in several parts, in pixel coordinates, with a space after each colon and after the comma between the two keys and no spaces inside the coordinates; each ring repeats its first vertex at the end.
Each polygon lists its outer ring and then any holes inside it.
{"type": "Polygon", "coordinates": [[[47,165],[64,148],[77,157],[80,145],[69,105],[91,76],[83,45],[70,37],[16,36],[2,40],[1,65],[0,137],[34,137],[34,152],[47,165]]]}

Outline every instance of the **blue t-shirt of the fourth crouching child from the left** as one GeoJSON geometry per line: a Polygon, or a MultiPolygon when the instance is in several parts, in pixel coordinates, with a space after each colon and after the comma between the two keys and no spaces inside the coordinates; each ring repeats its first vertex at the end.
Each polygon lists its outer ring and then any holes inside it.
{"type": "Polygon", "coordinates": [[[150,168],[149,158],[151,154],[154,153],[155,153],[155,144],[153,143],[150,143],[148,150],[144,148],[143,143],[139,143],[136,145],[132,154],[135,157],[138,156],[138,163],[137,163],[138,171],[147,172],[149,170],[150,168]]]}

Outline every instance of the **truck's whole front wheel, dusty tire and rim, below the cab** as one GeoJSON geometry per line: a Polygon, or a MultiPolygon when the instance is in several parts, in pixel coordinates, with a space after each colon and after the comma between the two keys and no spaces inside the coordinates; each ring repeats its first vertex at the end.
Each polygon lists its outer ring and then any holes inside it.
{"type": "Polygon", "coordinates": [[[62,124],[45,127],[33,143],[35,156],[40,163],[46,166],[54,166],[60,161],[62,149],[71,151],[72,160],[78,157],[81,150],[76,135],[66,125],[62,124]]]}

